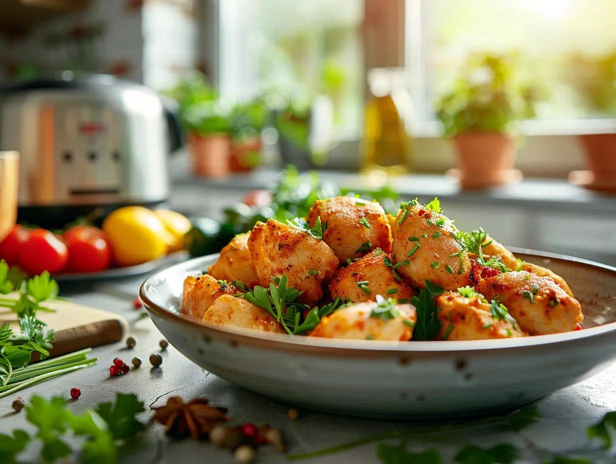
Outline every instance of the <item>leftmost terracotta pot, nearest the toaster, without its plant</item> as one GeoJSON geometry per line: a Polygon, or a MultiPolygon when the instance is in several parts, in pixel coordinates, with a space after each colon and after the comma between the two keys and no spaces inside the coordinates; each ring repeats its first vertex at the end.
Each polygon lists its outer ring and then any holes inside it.
{"type": "Polygon", "coordinates": [[[231,139],[227,134],[199,136],[188,135],[192,155],[193,174],[203,177],[225,177],[229,174],[231,139]]]}

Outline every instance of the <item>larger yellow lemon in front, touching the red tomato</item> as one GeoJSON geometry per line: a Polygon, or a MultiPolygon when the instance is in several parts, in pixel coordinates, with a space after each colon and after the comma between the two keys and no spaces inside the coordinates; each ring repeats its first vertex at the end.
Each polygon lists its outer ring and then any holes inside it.
{"type": "Polygon", "coordinates": [[[103,221],[103,231],[118,266],[135,266],[160,258],[173,237],[158,216],[142,206],[125,206],[103,221]]]}

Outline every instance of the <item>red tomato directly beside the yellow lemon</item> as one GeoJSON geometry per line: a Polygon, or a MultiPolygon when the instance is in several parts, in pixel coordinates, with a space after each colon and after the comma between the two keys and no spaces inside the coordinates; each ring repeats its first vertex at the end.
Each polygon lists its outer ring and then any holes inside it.
{"type": "Polygon", "coordinates": [[[68,246],[69,272],[105,271],[111,264],[111,247],[105,232],[97,227],[75,226],[64,233],[68,246]]]}

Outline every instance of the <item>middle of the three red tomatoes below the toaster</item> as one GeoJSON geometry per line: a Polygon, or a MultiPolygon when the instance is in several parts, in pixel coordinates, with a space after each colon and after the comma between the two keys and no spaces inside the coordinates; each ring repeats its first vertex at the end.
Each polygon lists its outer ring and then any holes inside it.
{"type": "Polygon", "coordinates": [[[57,274],[64,269],[67,260],[67,245],[62,240],[49,230],[34,229],[22,246],[18,266],[28,275],[41,274],[43,271],[57,274]]]}

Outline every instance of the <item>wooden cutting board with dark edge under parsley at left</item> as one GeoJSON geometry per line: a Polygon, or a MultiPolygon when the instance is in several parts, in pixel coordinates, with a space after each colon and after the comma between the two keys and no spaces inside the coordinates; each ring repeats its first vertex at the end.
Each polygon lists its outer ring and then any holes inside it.
{"type": "MultiPolygon", "coordinates": [[[[17,298],[17,293],[6,295],[5,298],[17,298]]],[[[36,316],[47,324],[47,328],[55,329],[55,340],[52,342],[54,348],[49,352],[49,356],[60,356],[79,349],[120,341],[128,331],[126,319],[113,312],[60,299],[46,301],[44,306],[55,309],[55,312],[36,313],[36,316]]],[[[0,325],[6,322],[11,323],[15,332],[19,332],[17,317],[12,314],[0,315],[0,325]]]]}

